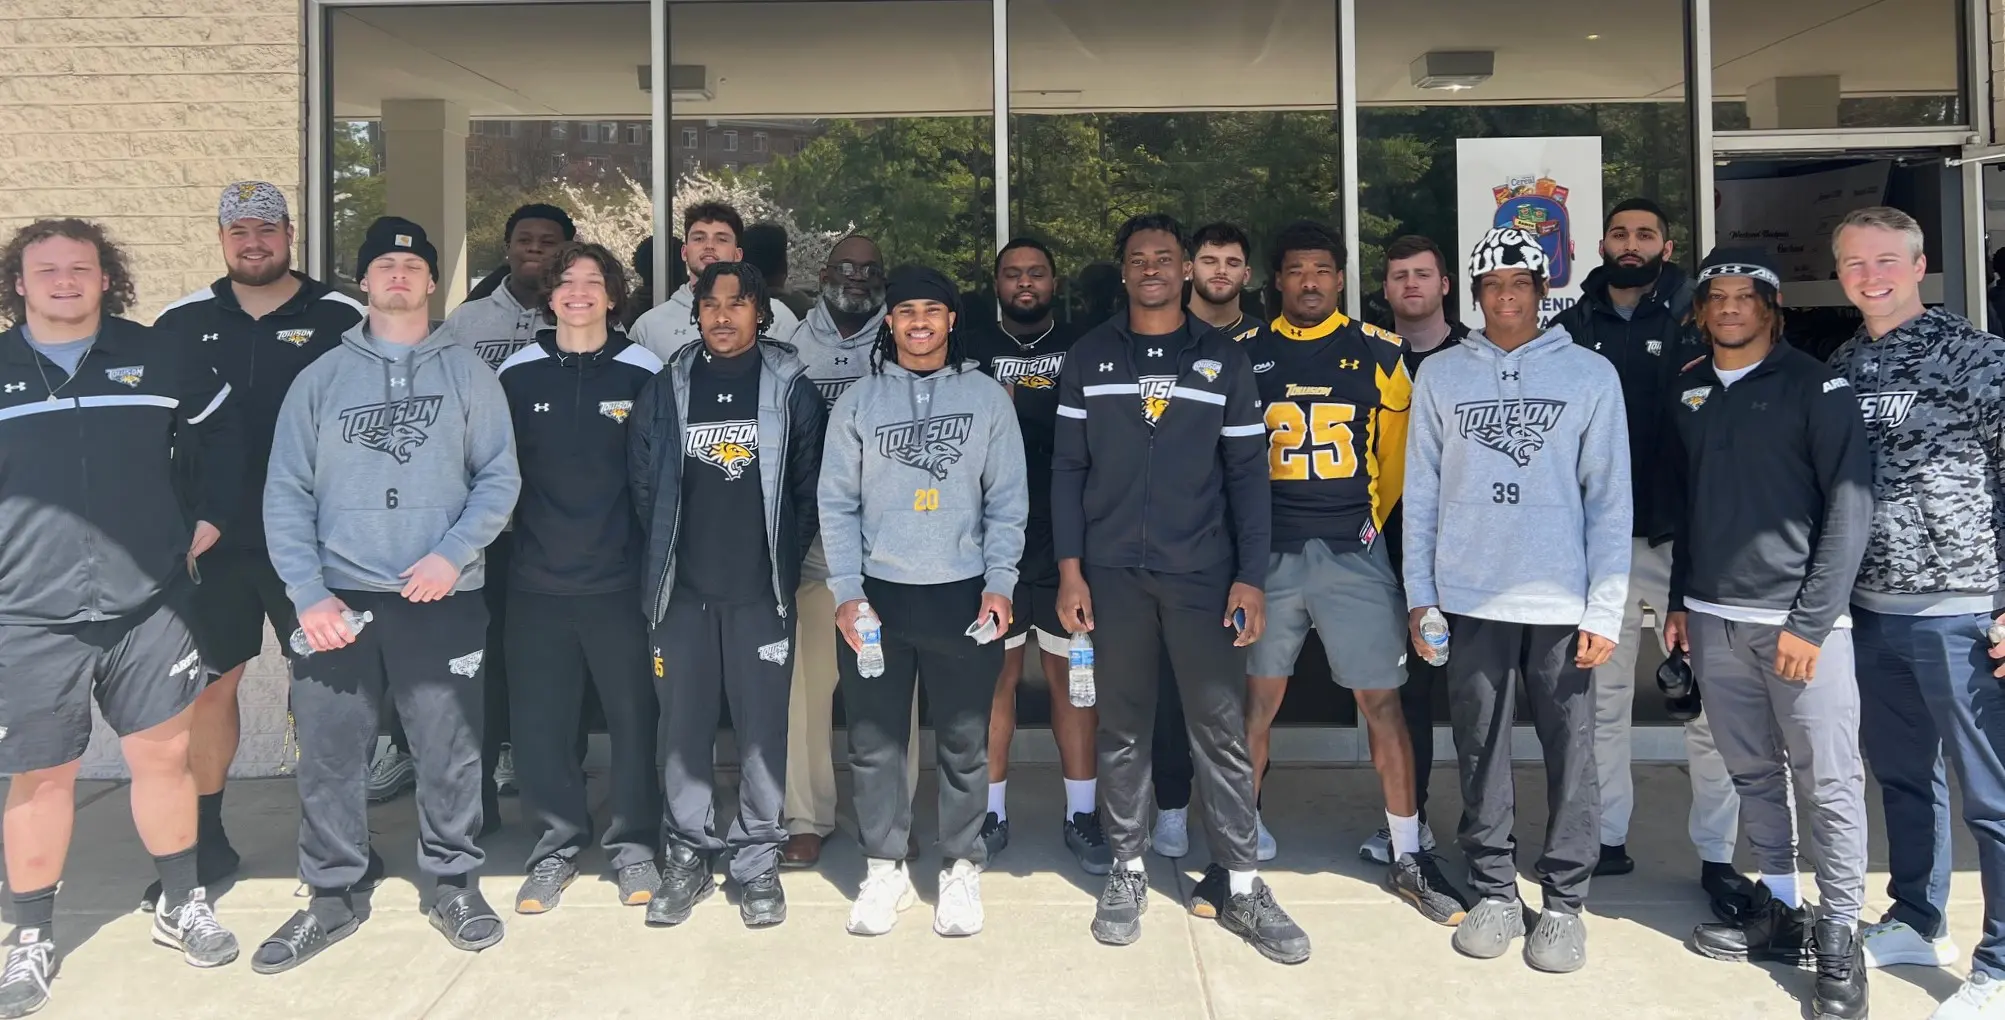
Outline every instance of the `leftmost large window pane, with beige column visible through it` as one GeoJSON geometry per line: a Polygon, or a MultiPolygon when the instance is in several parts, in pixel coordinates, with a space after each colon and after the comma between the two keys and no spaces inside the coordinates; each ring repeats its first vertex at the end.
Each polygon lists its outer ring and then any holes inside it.
{"type": "Polygon", "coordinates": [[[503,267],[501,228],[525,202],[569,210],[579,236],[616,252],[648,234],[650,176],[571,144],[618,142],[620,120],[648,122],[650,96],[634,82],[650,60],[646,2],[351,6],[327,24],[335,124],[323,242],[335,275],[355,271],[363,230],[385,212],[417,220],[439,246],[437,313],[503,267]],[[551,46],[591,58],[543,74],[551,46]],[[441,164],[457,170],[443,156],[453,144],[465,146],[465,170],[441,180],[441,164]]]}

